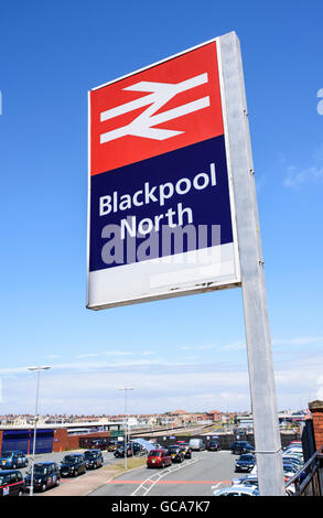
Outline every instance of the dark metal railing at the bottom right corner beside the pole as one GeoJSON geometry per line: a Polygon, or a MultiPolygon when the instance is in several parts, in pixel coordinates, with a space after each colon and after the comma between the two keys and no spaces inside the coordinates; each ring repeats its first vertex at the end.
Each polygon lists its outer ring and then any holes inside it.
{"type": "Polygon", "coordinates": [[[323,495],[323,446],[287,482],[286,489],[291,496],[323,495]]]}

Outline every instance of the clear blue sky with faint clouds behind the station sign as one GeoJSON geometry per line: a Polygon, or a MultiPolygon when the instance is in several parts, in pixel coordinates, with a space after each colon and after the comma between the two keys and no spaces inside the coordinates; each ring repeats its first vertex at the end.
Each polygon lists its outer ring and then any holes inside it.
{"type": "Polygon", "coordinates": [[[134,387],[133,413],[250,409],[239,289],[85,309],[87,90],[230,31],[244,60],[278,406],[323,399],[322,19],[315,0],[2,6],[0,414],[33,412],[25,368],[44,364],[43,413],[122,412],[122,386],[134,387]]]}

